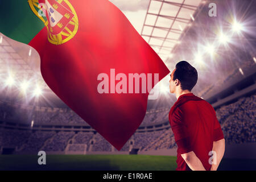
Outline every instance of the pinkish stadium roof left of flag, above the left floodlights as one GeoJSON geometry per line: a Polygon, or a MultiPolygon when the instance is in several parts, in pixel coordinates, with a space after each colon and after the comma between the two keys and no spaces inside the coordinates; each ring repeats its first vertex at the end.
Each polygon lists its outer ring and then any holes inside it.
{"type": "Polygon", "coordinates": [[[0,33],[0,78],[1,83],[8,77],[30,80],[31,85],[40,84],[48,88],[40,75],[40,59],[35,49],[7,38],[0,33]]]}

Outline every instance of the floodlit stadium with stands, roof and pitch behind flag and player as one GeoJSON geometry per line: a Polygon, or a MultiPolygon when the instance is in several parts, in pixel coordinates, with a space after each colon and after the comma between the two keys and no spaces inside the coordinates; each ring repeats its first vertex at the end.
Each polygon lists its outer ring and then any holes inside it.
{"type": "MultiPolygon", "coordinates": [[[[192,93],[216,111],[226,141],[220,170],[256,169],[256,53],[253,0],[112,0],[172,70],[187,60],[199,73],[192,93]]],[[[160,170],[176,168],[168,121],[176,102],[170,75],[120,151],[48,88],[35,49],[0,33],[0,170],[160,170]],[[45,151],[47,165],[38,165],[45,151]]]]}

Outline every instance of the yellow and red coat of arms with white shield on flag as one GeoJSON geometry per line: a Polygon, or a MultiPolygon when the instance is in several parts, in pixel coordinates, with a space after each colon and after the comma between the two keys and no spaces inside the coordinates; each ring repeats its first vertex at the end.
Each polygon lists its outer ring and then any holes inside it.
{"type": "Polygon", "coordinates": [[[63,44],[76,35],[79,20],[68,0],[28,0],[28,3],[35,15],[46,25],[50,43],[63,44]],[[42,10],[46,18],[39,14],[42,10]]]}

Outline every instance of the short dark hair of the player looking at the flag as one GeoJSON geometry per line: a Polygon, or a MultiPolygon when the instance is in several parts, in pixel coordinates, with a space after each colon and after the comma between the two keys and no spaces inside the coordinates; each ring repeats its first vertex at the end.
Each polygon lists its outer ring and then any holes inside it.
{"type": "Polygon", "coordinates": [[[178,79],[182,90],[191,90],[197,82],[196,68],[192,67],[187,61],[180,61],[176,64],[173,80],[178,79]]]}

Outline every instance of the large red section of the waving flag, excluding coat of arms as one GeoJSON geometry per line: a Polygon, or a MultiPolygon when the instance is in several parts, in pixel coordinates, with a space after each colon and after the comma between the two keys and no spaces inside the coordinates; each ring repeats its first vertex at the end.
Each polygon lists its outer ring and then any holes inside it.
{"type": "Polygon", "coordinates": [[[53,45],[47,40],[45,27],[31,40],[30,46],[39,52],[42,76],[49,88],[121,150],[143,121],[148,93],[100,94],[98,75],[106,73],[110,77],[113,68],[115,75],[159,73],[161,80],[170,71],[112,3],[69,2],[79,19],[75,37],[59,46],[53,45]]]}

